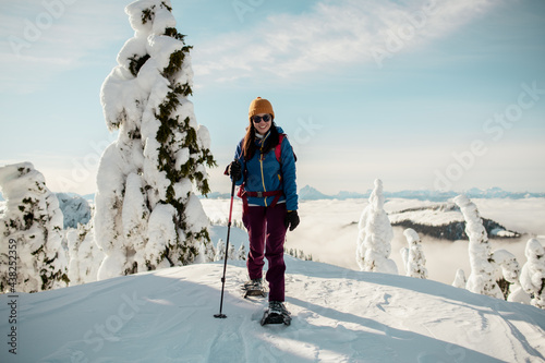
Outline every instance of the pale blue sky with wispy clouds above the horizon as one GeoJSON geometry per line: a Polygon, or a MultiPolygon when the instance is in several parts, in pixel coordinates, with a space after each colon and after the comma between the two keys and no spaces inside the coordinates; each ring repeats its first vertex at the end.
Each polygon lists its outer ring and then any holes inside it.
{"type": "MultiPolygon", "coordinates": [[[[95,191],[100,86],[133,36],[130,1],[0,3],[0,166],[95,191]]],[[[499,186],[545,192],[545,2],[173,1],[193,102],[220,166],[268,98],[325,193],[499,186]]],[[[213,191],[229,192],[222,168],[213,191]]]]}

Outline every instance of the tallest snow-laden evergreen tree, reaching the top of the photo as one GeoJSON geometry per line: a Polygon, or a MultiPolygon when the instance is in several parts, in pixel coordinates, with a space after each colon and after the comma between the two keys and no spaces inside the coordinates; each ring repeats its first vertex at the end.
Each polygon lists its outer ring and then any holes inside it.
{"type": "Polygon", "coordinates": [[[170,0],[135,1],[125,12],[134,37],[100,94],[107,126],[119,136],[97,174],[95,240],[106,254],[99,279],[190,264],[209,243],[193,186],[209,192],[205,166],[215,161],[187,99],[191,47],[170,0]]]}

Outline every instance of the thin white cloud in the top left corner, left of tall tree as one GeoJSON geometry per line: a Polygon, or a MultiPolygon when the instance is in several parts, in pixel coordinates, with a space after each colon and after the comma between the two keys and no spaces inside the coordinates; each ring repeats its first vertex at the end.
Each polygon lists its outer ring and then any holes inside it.
{"type": "Polygon", "coordinates": [[[2,4],[0,92],[39,89],[56,74],[77,68],[131,32],[119,2],[22,0],[2,4]]]}

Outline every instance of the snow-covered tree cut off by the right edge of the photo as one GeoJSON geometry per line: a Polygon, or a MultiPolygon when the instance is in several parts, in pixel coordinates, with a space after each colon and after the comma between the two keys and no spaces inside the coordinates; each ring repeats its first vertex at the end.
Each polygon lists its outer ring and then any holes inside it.
{"type": "Polygon", "coordinates": [[[526,263],[522,266],[520,285],[532,298],[531,304],[545,308],[545,250],[536,239],[530,239],[525,249],[526,263]]]}

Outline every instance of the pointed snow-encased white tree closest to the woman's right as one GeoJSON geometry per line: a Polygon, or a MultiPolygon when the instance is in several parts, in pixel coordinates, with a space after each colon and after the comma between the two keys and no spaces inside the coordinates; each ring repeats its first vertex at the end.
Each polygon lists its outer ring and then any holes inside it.
{"type": "Polygon", "coordinates": [[[388,215],[384,210],[383,182],[375,180],[375,189],[370,204],[360,217],[356,262],[362,271],[398,274],[396,263],[388,258],[391,252],[391,229],[388,215]]]}

